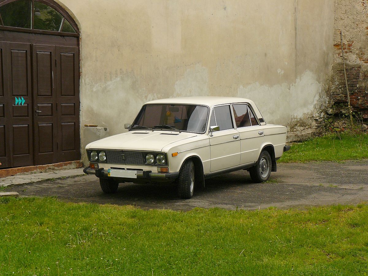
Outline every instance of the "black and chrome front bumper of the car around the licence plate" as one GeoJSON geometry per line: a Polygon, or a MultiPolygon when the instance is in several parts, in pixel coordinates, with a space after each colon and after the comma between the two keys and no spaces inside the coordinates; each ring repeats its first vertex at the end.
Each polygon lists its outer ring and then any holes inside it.
{"type": "MultiPolygon", "coordinates": [[[[99,178],[108,178],[107,176],[107,169],[99,168],[99,169],[92,169],[91,167],[85,167],[83,169],[85,174],[94,174],[99,178]]],[[[137,178],[120,178],[125,182],[135,182],[144,181],[144,182],[172,182],[176,180],[179,176],[179,172],[173,173],[152,173],[152,171],[137,171],[137,178]]],[[[116,178],[116,177],[114,177],[116,178]]]]}

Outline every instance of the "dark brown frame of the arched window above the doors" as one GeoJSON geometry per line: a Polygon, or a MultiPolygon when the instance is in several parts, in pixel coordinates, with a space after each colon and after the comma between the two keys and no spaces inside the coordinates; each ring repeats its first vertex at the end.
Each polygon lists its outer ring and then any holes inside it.
{"type": "MultiPolygon", "coordinates": [[[[0,7],[9,4],[11,2],[15,2],[18,0],[0,0],[0,7]]],[[[11,27],[11,26],[4,26],[4,22],[3,19],[1,18],[1,14],[0,14],[0,30],[4,30],[4,31],[15,31],[15,32],[26,32],[26,33],[39,33],[39,34],[46,34],[46,35],[59,35],[59,36],[74,36],[74,37],[78,37],[79,36],[79,28],[77,23],[75,23],[74,19],[71,17],[71,15],[63,8],[61,7],[59,4],[57,4],[56,2],[54,2],[53,0],[29,0],[32,2],[32,18],[31,18],[31,29],[27,29],[27,28],[17,28],[17,27],[11,27]],[[42,4],[45,4],[47,6],[49,6],[50,8],[53,8],[54,10],[56,10],[58,13],[60,13],[63,18],[65,18],[69,24],[72,26],[72,28],[74,29],[75,33],[67,33],[67,32],[57,32],[57,31],[45,31],[45,30],[36,30],[33,29],[34,28],[34,7],[35,7],[35,3],[34,2],[39,2],[42,4]]]]}

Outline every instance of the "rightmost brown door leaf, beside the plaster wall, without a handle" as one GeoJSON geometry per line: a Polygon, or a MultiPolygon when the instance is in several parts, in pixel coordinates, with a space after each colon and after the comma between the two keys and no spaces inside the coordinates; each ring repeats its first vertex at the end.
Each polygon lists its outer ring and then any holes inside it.
{"type": "Polygon", "coordinates": [[[78,47],[56,46],[59,162],[80,159],[78,65],[78,47]]]}

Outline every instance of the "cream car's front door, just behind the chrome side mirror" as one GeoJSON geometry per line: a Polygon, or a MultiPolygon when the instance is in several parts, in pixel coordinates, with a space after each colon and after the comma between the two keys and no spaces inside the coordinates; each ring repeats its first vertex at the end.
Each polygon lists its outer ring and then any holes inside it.
{"type": "Polygon", "coordinates": [[[212,110],[210,126],[219,131],[210,132],[210,171],[223,170],[240,164],[239,132],[234,128],[230,105],[216,106],[212,110]]]}

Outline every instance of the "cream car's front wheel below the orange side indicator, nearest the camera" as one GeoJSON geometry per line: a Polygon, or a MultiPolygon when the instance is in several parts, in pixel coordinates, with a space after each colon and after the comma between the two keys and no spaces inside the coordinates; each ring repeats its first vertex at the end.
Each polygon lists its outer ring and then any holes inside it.
{"type": "Polygon", "coordinates": [[[178,196],[192,198],[195,184],[194,164],[191,160],[185,161],[179,172],[178,196]]]}

